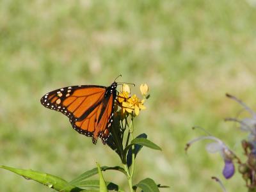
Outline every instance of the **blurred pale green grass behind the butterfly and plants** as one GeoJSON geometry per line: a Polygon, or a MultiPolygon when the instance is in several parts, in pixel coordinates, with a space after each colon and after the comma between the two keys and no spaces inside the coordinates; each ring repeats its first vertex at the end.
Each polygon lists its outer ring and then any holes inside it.
{"type": "MultiPolygon", "coordinates": [[[[0,1],[0,164],[71,180],[117,156],[77,134],[61,113],[44,108],[47,92],[76,84],[118,81],[150,87],[136,118],[163,152],[143,148],[134,183],[151,177],[161,191],[246,191],[241,175],[221,175],[219,154],[203,143],[184,152],[200,125],[241,152],[246,133],[223,122],[235,116],[232,93],[256,109],[256,1],[0,1]]],[[[238,152],[238,154],[239,154],[238,152]]],[[[243,158],[242,158],[243,159],[243,158]]],[[[0,170],[1,191],[51,191],[0,170]]],[[[127,189],[127,180],[104,173],[127,189]]]]}

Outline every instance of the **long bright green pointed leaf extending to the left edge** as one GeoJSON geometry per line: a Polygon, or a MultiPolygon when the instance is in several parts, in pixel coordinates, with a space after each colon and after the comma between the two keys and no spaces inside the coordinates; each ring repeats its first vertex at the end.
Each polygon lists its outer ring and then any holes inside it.
{"type": "Polygon", "coordinates": [[[61,179],[60,177],[57,177],[55,175],[36,172],[34,170],[22,170],[17,168],[11,168],[8,166],[0,166],[0,168],[9,170],[13,173],[17,173],[18,175],[21,175],[26,179],[32,179],[32,180],[35,180],[36,182],[40,182],[41,184],[44,184],[49,188],[55,189],[56,191],[61,191],[61,189],[63,188],[65,188],[64,190],[65,192],[69,192],[71,190],[72,192],[83,191],[83,189],[76,188],[75,186],[68,184],[66,180],[61,179]]]}

